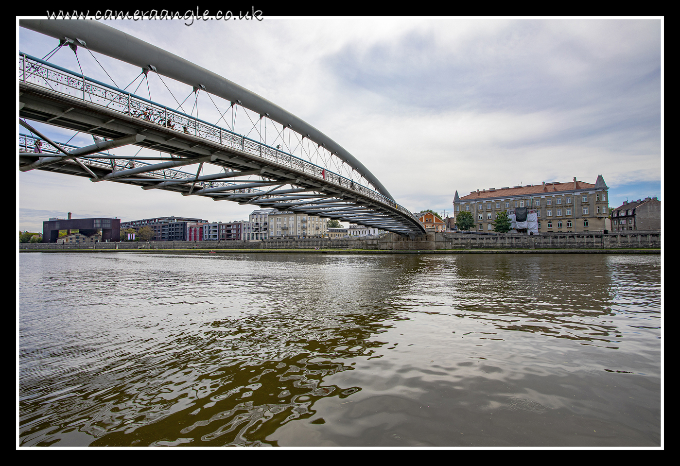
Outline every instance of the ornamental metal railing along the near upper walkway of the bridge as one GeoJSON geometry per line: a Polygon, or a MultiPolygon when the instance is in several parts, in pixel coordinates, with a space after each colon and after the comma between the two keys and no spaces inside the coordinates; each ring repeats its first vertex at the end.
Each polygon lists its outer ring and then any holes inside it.
{"type": "MultiPolygon", "coordinates": [[[[286,165],[291,169],[307,173],[317,178],[322,178],[347,190],[352,190],[363,197],[375,199],[386,205],[390,205],[402,214],[416,218],[409,210],[398,205],[392,199],[377,193],[375,190],[363,186],[354,180],[345,178],[324,167],[300,159],[297,156],[284,152],[277,148],[267,146],[244,135],[234,133],[228,129],[218,127],[215,124],[203,121],[197,117],[187,115],[160,103],[144,99],[126,90],[109,86],[80,73],[54,65],[35,56],[19,52],[19,80],[24,83],[49,88],[56,93],[82,99],[88,103],[101,105],[121,114],[129,115],[140,120],[146,120],[167,127],[175,131],[182,131],[188,135],[199,137],[222,146],[231,147],[252,156],[273,161],[279,165],[286,165]]],[[[232,105],[237,105],[233,103],[232,105]]],[[[206,184],[207,186],[207,184],[206,184]]],[[[220,186],[213,184],[213,186],[220,186]]],[[[246,192],[251,192],[246,191],[246,192]]],[[[252,192],[261,192],[252,190],[252,192]]],[[[262,196],[267,198],[269,196],[262,196]]]]}

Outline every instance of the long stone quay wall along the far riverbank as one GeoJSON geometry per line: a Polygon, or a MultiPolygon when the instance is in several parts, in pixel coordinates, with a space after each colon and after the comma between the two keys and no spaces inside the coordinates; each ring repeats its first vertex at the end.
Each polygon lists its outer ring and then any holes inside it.
{"type": "Polygon", "coordinates": [[[346,250],[475,250],[475,249],[644,249],[661,248],[661,232],[585,231],[579,233],[540,233],[478,235],[474,233],[428,232],[409,239],[396,233],[380,237],[341,239],[264,239],[261,241],[152,241],[112,243],[20,243],[20,250],[224,250],[224,249],[346,249],[346,250]]]}

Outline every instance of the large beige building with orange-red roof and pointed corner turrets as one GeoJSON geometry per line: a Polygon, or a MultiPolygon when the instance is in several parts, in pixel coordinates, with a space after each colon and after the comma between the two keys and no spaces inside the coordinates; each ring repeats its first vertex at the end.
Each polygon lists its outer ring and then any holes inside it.
{"type": "Polygon", "coordinates": [[[526,208],[537,215],[539,233],[598,231],[606,228],[609,216],[609,187],[598,175],[594,184],[573,182],[543,182],[505,188],[473,191],[464,197],[454,197],[454,221],[460,212],[470,212],[477,231],[493,231],[499,212],[514,214],[515,208],[526,208]]]}

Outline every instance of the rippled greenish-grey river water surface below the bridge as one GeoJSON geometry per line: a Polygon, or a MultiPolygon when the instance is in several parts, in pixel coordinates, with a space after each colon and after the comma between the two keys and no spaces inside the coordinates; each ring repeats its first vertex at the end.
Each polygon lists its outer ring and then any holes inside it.
{"type": "Polygon", "coordinates": [[[659,256],[20,254],[21,446],[659,446],[659,256]]]}

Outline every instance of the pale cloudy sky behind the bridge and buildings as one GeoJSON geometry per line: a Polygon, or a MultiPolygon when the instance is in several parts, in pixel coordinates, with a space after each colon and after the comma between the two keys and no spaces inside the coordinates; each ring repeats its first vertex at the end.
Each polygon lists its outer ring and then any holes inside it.
{"type": "MultiPolygon", "coordinates": [[[[659,19],[265,16],[191,26],[184,20],[105,24],[299,116],[356,156],[413,212],[450,214],[456,190],[464,196],[574,177],[594,183],[598,175],[609,186],[612,207],[626,198],[663,201],[659,19]]],[[[33,56],[42,58],[57,45],[51,37],[17,31],[18,48],[33,56]]],[[[86,75],[110,82],[94,60],[79,57],[86,75]]],[[[124,84],[139,73],[97,58],[124,84]]],[[[78,71],[67,48],[50,61],[78,71]]],[[[142,90],[138,94],[148,97],[142,90]]],[[[73,136],[35,127],[60,142],[73,136]]],[[[92,139],[75,135],[70,144],[92,139]]],[[[245,219],[252,211],[229,201],[37,170],[18,173],[17,186],[18,227],[30,231],[67,212],[213,222],[245,219]]]]}

